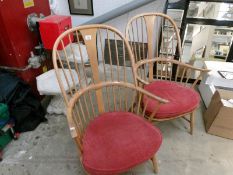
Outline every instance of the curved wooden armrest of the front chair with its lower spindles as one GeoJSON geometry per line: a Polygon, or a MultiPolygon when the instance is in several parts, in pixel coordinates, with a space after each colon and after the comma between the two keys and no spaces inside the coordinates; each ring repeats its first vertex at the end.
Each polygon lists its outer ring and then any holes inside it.
{"type": "MultiPolygon", "coordinates": [[[[153,115],[157,112],[157,110],[159,109],[160,104],[163,103],[167,103],[168,100],[162,99],[150,92],[145,91],[144,89],[137,87],[133,84],[130,83],[126,83],[126,82],[101,82],[101,83],[97,83],[97,84],[92,84],[89,85],[88,87],[84,88],[84,89],[80,89],[79,91],[77,91],[73,97],[70,99],[69,104],[67,106],[67,117],[68,117],[68,121],[69,121],[69,126],[70,126],[70,131],[71,131],[71,135],[72,137],[76,140],[76,142],[79,145],[79,149],[82,152],[82,135],[85,131],[85,127],[88,124],[88,122],[90,121],[89,119],[93,119],[96,116],[98,116],[99,114],[101,114],[102,112],[111,112],[111,110],[104,110],[104,111],[99,111],[96,113],[93,113],[93,115],[90,117],[88,117],[89,114],[86,114],[80,105],[83,105],[83,103],[81,103],[81,99],[82,97],[84,97],[86,94],[88,94],[90,91],[94,91],[94,92],[100,92],[100,89],[105,89],[105,88],[113,88],[113,87],[120,87],[120,88],[125,88],[125,89],[130,89],[134,92],[136,92],[136,96],[134,96],[135,98],[133,100],[129,100],[128,99],[126,101],[128,101],[128,104],[126,108],[117,108],[120,111],[123,109],[127,112],[129,112],[129,110],[133,113],[135,113],[136,115],[139,115],[139,113],[141,111],[143,111],[143,115],[145,114],[146,111],[146,106],[148,104],[148,100],[147,100],[147,104],[145,106],[143,106],[144,108],[141,108],[141,104],[143,102],[143,96],[147,96],[148,98],[152,99],[152,100],[156,100],[158,102],[158,104],[155,106],[153,115]],[[82,117],[80,117],[80,114],[77,113],[77,106],[80,106],[81,109],[81,113],[83,113],[82,117]],[[142,109],[142,110],[140,110],[142,109]],[[77,118],[76,118],[77,117],[77,118]],[[77,119],[80,119],[79,121],[77,119]],[[70,121],[74,120],[75,121],[75,126],[72,127],[73,123],[70,123],[70,121]],[[89,121],[87,121],[89,120],[89,121]],[[85,121],[85,122],[84,122],[85,121]],[[71,128],[72,127],[72,128],[71,128]]],[[[115,98],[115,97],[114,97],[115,98]]],[[[102,101],[95,101],[95,106],[98,106],[99,103],[101,102],[101,105],[103,105],[102,101]]],[[[115,100],[114,100],[115,102],[115,100]]],[[[85,103],[85,102],[84,102],[85,103]]],[[[124,102],[122,102],[124,103],[124,102]]],[[[90,102],[90,104],[92,104],[92,102],[90,102]]],[[[86,110],[89,110],[88,108],[86,108],[86,110]]],[[[117,110],[118,111],[118,110],[117,110]]]]}

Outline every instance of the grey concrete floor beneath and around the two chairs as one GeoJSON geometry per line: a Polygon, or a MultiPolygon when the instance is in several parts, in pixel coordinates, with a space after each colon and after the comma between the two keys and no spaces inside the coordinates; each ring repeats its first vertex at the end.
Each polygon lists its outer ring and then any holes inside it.
{"type": "MultiPolygon", "coordinates": [[[[233,174],[233,140],[206,134],[204,110],[203,105],[197,110],[193,136],[182,119],[157,124],[164,138],[158,152],[159,175],[233,174]]],[[[0,163],[0,175],[84,174],[65,116],[47,118],[47,124],[8,145],[0,163]]],[[[152,164],[145,162],[125,174],[153,174],[152,164]]]]}

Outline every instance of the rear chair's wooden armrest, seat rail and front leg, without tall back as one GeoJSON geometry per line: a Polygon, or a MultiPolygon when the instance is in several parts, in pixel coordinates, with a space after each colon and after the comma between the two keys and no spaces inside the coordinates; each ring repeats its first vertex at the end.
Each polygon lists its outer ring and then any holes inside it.
{"type": "MultiPolygon", "coordinates": [[[[196,78],[196,80],[191,84],[191,88],[194,89],[197,82],[199,80],[201,80],[202,76],[208,72],[209,70],[207,69],[200,69],[200,68],[195,68],[191,65],[185,64],[185,63],[181,63],[180,61],[177,60],[170,60],[170,59],[164,59],[164,58],[154,58],[154,59],[147,59],[147,60],[141,60],[139,61],[136,65],[135,65],[135,69],[136,69],[136,78],[137,80],[142,83],[142,85],[146,85],[149,84],[152,81],[155,80],[163,80],[163,81],[175,81],[177,83],[180,83],[184,86],[189,87],[190,86],[190,79],[191,79],[191,75],[193,72],[198,72],[198,77],[196,78]],[[165,74],[161,74],[161,72],[156,71],[155,73],[155,77],[158,77],[158,79],[152,79],[149,80],[149,78],[147,78],[147,76],[140,74],[142,71],[140,71],[140,68],[145,66],[146,64],[150,64],[150,63],[156,63],[157,67],[162,67],[165,71],[165,74]],[[172,76],[172,67],[176,66],[177,67],[177,72],[175,77],[172,76]],[[181,75],[181,77],[179,77],[178,75],[181,75]],[[146,77],[146,79],[145,79],[146,77]]],[[[158,70],[158,69],[157,69],[158,70]]],[[[185,98],[185,97],[184,97],[185,98]]],[[[193,128],[194,128],[194,117],[195,117],[195,110],[186,113],[186,114],[182,114],[173,118],[164,118],[164,119],[157,119],[154,118],[154,116],[152,117],[148,117],[149,120],[151,121],[166,121],[166,120],[171,120],[171,119],[176,119],[176,118],[180,118],[182,117],[183,119],[185,119],[185,121],[190,123],[190,133],[193,134],[193,128]],[[190,115],[190,119],[187,119],[185,116],[186,115],[190,115]]]]}

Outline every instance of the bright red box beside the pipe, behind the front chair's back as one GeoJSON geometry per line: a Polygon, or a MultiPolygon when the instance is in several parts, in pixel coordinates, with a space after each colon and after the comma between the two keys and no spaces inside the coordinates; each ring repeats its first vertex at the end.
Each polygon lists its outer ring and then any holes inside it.
{"type": "MultiPolygon", "coordinates": [[[[57,37],[64,31],[70,29],[71,17],[61,16],[61,15],[51,15],[39,21],[40,25],[40,35],[46,49],[53,49],[53,45],[57,37]]],[[[73,35],[70,35],[71,41],[73,40],[73,35]]],[[[64,47],[70,43],[69,37],[63,39],[64,47]]],[[[58,46],[58,49],[63,49],[62,45],[58,46]]]]}

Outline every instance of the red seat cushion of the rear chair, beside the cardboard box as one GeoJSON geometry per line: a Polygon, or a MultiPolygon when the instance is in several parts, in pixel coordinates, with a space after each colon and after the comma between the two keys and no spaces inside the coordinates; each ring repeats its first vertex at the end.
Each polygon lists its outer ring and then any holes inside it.
{"type": "MultiPolygon", "coordinates": [[[[144,87],[145,90],[169,100],[168,103],[162,104],[155,115],[155,118],[164,119],[172,118],[188,112],[192,112],[199,105],[200,96],[192,88],[185,87],[181,84],[171,81],[154,81],[144,87]]],[[[145,104],[148,97],[144,97],[145,104]]],[[[149,99],[146,114],[150,115],[158,101],[149,99]]]]}

